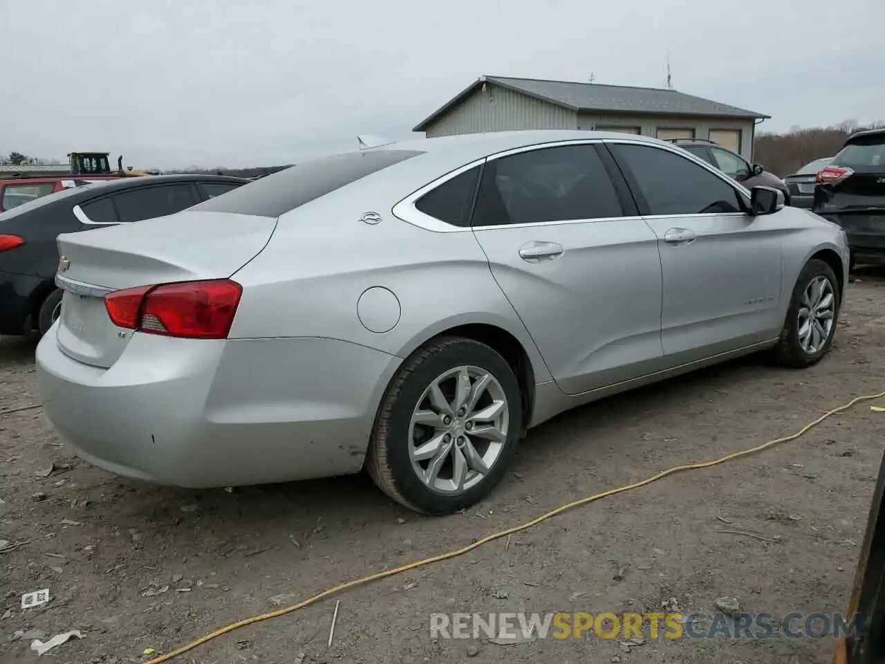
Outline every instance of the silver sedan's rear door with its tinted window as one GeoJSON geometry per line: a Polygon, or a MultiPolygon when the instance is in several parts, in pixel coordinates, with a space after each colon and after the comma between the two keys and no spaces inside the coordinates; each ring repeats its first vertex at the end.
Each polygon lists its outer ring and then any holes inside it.
{"type": "Polygon", "coordinates": [[[567,394],[663,358],[657,238],[604,158],[592,143],[490,158],[473,210],[492,274],[567,394]]]}

